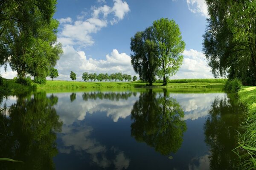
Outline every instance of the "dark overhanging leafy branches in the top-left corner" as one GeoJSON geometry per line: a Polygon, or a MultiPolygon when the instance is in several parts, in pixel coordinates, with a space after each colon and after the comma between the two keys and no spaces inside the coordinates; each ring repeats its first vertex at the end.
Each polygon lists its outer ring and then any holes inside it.
{"type": "Polygon", "coordinates": [[[37,35],[37,29],[41,27],[42,22],[50,22],[55,12],[56,3],[56,0],[1,1],[0,65],[8,62],[8,58],[13,52],[10,45],[20,39],[12,34],[13,30],[16,29],[27,35],[37,35]]]}

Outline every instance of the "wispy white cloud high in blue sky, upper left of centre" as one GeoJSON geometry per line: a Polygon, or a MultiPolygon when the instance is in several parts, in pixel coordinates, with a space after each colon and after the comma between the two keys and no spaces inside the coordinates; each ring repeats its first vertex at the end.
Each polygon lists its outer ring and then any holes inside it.
{"type": "MultiPolygon", "coordinates": [[[[100,0],[104,3],[104,1],[100,0]]],[[[92,33],[96,33],[102,28],[118,23],[130,11],[128,3],[122,0],[113,0],[113,7],[104,5],[92,7],[91,17],[84,20],[86,13],[82,12],[72,23],[72,19],[59,19],[61,31],[58,35],[58,42],[63,45],[78,45],[79,47],[91,46],[94,43],[92,33]]]]}

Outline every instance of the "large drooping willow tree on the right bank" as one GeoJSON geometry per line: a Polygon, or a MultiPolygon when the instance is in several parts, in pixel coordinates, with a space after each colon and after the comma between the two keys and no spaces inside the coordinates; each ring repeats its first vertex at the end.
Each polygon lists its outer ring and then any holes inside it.
{"type": "Polygon", "coordinates": [[[203,51],[215,77],[256,81],[256,1],[206,0],[203,51]]]}

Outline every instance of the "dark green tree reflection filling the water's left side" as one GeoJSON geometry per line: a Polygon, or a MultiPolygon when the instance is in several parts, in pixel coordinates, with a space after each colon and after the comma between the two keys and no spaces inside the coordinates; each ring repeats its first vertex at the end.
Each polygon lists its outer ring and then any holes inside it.
{"type": "Polygon", "coordinates": [[[0,114],[0,157],[24,163],[1,162],[0,169],[51,170],[56,148],[56,131],[61,131],[53,105],[57,96],[35,92],[33,96],[18,95],[17,103],[8,109],[8,115],[0,114]]]}

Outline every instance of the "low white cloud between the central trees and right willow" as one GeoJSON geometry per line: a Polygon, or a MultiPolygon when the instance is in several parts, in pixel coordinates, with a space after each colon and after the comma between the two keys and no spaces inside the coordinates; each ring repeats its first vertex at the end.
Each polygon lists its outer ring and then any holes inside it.
{"type": "Polygon", "coordinates": [[[202,52],[193,49],[185,50],[183,56],[179,71],[171,79],[214,78],[202,52]]]}

